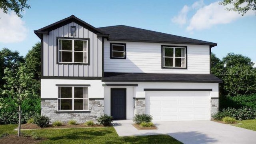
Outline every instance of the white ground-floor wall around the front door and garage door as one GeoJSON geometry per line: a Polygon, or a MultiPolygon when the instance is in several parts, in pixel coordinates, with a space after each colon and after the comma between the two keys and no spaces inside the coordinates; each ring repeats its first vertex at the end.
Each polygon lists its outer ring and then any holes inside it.
{"type": "Polygon", "coordinates": [[[127,119],[132,119],[135,114],[146,112],[146,91],[144,88],[155,89],[212,89],[208,91],[210,113],[218,112],[218,83],[182,83],[182,82],[104,82],[104,84],[138,84],[138,86],[104,86],[104,113],[110,114],[110,88],[127,88],[127,119]]]}

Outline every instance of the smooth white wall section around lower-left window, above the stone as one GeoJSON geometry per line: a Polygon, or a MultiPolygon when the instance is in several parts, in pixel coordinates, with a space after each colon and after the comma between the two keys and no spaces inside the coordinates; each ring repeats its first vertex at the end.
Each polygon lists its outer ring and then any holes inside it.
{"type": "Polygon", "coordinates": [[[56,84],[90,84],[88,86],[88,98],[104,98],[104,88],[101,80],[41,80],[41,98],[58,98],[58,86],[56,84]]]}

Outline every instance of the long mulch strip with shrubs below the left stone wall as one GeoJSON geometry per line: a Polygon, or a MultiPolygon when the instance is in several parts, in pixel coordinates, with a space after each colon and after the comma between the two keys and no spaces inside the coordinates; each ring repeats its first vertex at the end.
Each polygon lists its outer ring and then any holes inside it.
{"type": "MultiPolygon", "coordinates": [[[[46,128],[93,128],[93,127],[104,127],[104,126],[102,126],[102,125],[86,126],[84,124],[76,124],[76,125],[70,126],[68,124],[62,124],[62,126],[49,125],[46,128]]],[[[36,124],[22,124],[21,129],[24,130],[24,129],[44,129],[44,128],[40,128],[36,124]]]]}

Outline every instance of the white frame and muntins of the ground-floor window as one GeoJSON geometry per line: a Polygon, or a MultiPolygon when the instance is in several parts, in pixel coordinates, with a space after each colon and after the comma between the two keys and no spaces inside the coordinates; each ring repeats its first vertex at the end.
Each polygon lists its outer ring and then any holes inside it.
{"type": "Polygon", "coordinates": [[[89,111],[89,98],[88,98],[88,87],[87,86],[58,86],[58,101],[57,101],[57,105],[58,105],[58,112],[76,112],[76,111],[89,111]],[[72,87],[72,98],[60,98],[60,87],[72,87]],[[83,87],[84,89],[84,98],[74,98],[74,89],[75,87],[83,87]],[[60,100],[64,100],[64,99],[72,99],[72,110],[60,110],[61,109],[61,102],[60,100]],[[83,110],[75,110],[75,99],[84,99],[84,109],[83,110]],[[85,106],[87,100],[87,107],[85,106]]]}

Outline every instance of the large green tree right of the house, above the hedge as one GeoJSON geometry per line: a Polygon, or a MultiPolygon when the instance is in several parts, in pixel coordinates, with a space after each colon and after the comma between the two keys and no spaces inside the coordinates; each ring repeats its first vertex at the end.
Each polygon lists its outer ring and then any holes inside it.
{"type": "Polygon", "coordinates": [[[214,64],[211,72],[223,81],[220,85],[222,95],[236,96],[256,92],[256,69],[250,58],[234,53],[228,53],[222,60],[214,57],[212,54],[214,64]]]}

